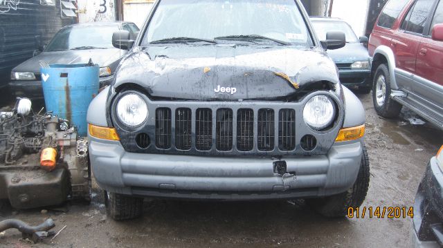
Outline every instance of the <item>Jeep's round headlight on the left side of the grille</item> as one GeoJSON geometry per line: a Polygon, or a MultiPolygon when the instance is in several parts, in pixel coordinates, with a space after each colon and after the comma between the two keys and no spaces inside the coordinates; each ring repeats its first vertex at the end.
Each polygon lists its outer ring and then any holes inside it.
{"type": "Polygon", "coordinates": [[[138,94],[127,94],[117,102],[118,120],[127,126],[139,126],[145,122],[147,115],[146,102],[138,94]]]}

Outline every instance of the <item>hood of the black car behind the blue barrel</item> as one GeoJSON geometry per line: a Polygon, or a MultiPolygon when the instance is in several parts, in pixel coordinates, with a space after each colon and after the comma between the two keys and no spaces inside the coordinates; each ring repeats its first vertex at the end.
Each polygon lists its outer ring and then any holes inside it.
{"type": "Polygon", "coordinates": [[[39,61],[48,64],[87,64],[92,59],[94,64],[108,66],[126,53],[117,48],[43,52],[19,64],[12,71],[40,73],[39,61]]]}

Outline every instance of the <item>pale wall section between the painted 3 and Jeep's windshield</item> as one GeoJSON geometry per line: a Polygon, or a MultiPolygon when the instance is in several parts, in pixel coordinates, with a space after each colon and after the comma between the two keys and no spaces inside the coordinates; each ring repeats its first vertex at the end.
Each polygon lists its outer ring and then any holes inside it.
{"type": "Polygon", "coordinates": [[[123,3],[123,19],[132,21],[136,23],[138,28],[142,28],[147,15],[152,9],[152,4],[150,0],[125,1],[123,3]]]}

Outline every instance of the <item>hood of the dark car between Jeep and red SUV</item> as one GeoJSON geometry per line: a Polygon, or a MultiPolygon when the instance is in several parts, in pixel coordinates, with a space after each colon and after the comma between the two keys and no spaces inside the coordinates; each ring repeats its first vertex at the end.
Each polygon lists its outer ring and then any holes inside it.
{"type": "Polygon", "coordinates": [[[327,54],[335,63],[354,63],[355,61],[368,61],[368,49],[361,43],[347,43],[346,46],[336,50],[327,50],[327,54]]]}

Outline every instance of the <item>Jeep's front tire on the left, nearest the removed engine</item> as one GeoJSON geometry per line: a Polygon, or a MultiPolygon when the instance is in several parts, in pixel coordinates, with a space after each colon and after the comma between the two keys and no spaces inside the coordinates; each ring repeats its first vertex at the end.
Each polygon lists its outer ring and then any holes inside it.
{"type": "Polygon", "coordinates": [[[143,213],[143,198],[105,191],[107,213],[114,220],[134,219],[143,213]]]}

